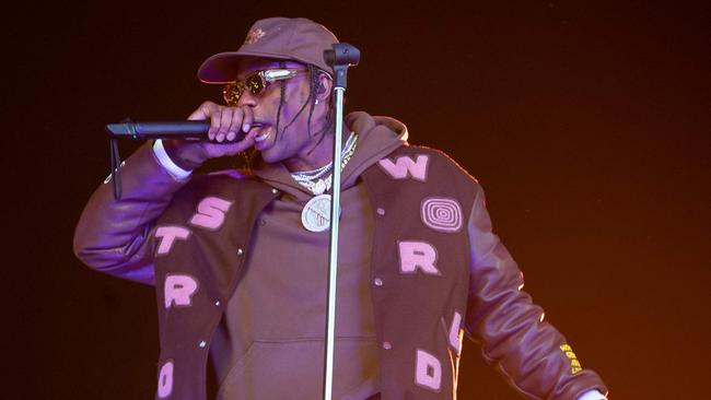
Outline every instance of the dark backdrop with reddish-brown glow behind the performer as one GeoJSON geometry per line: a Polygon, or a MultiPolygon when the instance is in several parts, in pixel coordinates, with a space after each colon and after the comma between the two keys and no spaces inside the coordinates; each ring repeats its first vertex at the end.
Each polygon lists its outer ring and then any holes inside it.
{"type": "MultiPolygon", "coordinates": [[[[403,120],[412,143],[479,179],[527,291],[613,399],[709,398],[706,4],[16,3],[1,83],[2,398],[152,398],[152,289],[71,251],[107,175],[103,126],[182,119],[219,99],[197,67],[273,15],[358,46],[348,108],[403,120]]],[[[470,342],[459,376],[463,399],[517,398],[470,342]]]]}

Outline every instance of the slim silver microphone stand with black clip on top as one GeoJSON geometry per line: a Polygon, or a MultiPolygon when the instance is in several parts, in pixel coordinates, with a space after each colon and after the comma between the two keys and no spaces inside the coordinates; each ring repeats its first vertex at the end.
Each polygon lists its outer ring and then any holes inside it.
{"type": "Polygon", "coordinates": [[[338,226],[340,216],[340,168],[343,128],[343,93],[348,67],[357,66],[360,51],[347,44],[331,45],[324,51],[324,60],[334,67],[334,93],[336,95],[336,131],[334,133],[334,177],[330,202],[330,240],[328,247],[328,303],[326,313],[326,351],[324,357],[324,400],[330,400],[334,386],[334,337],[336,331],[336,277],[338,272],[338,226]]]}

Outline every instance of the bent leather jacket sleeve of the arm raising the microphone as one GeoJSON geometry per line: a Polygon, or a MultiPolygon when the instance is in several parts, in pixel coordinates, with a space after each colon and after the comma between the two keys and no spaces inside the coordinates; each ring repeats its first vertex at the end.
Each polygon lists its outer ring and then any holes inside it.
{"type": "Polygon", "coordinates": [[[154,221],[173,193],[188,180],[176,180],[155,158],[148,142],[121,166],[121,200],[107,179],[92,195],[74,231],[74,254],[90,268],[153,284],[154,221]]]}

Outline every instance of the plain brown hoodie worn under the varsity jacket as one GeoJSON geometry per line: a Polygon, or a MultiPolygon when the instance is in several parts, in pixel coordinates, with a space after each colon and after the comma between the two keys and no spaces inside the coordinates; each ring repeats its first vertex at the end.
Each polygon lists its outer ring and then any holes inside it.
{"type": "MultiPolygon", "coordinates": [[[[333,392],[364,399],[378,390],[378,365],[369,280],[373,213],[359,177],[408,133],[393,118],[365,113],[350,114],[346,125],[358,145],[341,174],[333,392]]],[[[254,174],[283,195],[257,220],[243,275],[212,340],[217,398],[319,398],[329,232],[302,226],[313,193],[282,164],[263,163],[254,174]]]]}

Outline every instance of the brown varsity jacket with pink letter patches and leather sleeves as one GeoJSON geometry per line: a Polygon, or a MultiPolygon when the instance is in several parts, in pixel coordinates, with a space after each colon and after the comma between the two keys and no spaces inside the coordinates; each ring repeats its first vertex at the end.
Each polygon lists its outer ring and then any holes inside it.
{"type": "MultiPolygon", "coordinates": [[[[155,285],[156,398],[205,399],[210,339],[240,283],[256,219],[280,192],[237,174],[183,185],[145,149],[123,177],[121,201],[107,185],[90,200],[75,252],[95,269],[155,285]]],[[[455,398],[464,334],[527,398],[607,391],[521,291],[522,274],[491,232],[474,178],[418,146],[399,148],[361,178],[375,221],[371,281],[383,399],[455,398]]]]}

